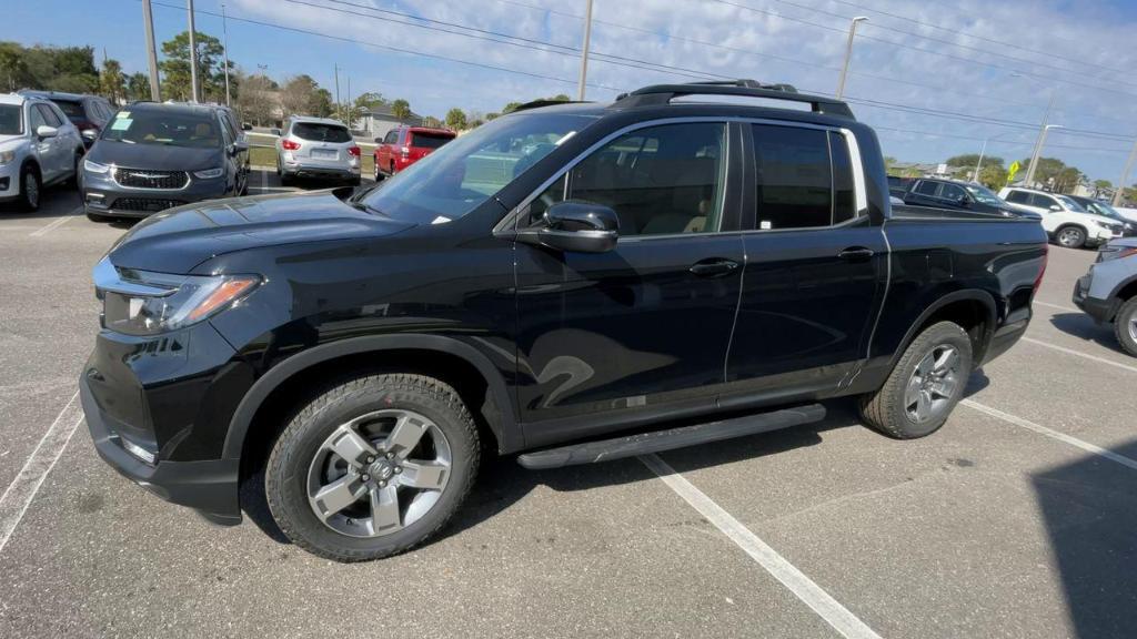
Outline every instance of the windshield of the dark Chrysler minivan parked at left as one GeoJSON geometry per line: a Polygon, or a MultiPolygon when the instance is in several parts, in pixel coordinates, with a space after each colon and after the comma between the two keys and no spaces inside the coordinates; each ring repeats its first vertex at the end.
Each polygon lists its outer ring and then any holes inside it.
{"type": "Polygon", "coordinates": [[[194,149],[222,146],[217,118],[210,114],[132,111],[130,107],[115,114],[115,119],[102,130],[102,139],[127,144],[161,144],[194,149]]]}

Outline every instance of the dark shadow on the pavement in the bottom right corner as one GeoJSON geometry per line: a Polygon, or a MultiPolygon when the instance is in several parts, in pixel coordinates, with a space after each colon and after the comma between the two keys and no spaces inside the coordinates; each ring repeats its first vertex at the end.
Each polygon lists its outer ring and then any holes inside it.
{"type": "MultiPolygon", "coordinates": [[[[1137,459],[1137,439],[1110,450],[1137,459]]],[[[1031,481],[1076,636],[1137,637],[1137,474],[1087,455],[1031,481]]]]}

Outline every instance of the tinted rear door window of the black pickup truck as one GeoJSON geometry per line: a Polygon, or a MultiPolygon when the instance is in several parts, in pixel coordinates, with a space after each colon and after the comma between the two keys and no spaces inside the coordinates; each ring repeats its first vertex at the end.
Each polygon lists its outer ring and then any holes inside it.
{"type": "Polygon", "coordinates": [[[767,124],[753,131],[760,230],[830,226],[856,216],[841,135],[767,124]]]}

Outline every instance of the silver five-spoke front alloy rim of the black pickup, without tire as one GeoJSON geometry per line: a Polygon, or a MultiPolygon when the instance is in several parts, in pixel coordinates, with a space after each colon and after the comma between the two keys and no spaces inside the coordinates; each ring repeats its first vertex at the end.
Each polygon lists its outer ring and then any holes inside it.
{"type": "Polygon", "coordinates": [[[338,426],[308,467],[308,504],[327,528],[375,538],[415,523],[434,507],[451,470],[450,443],[412,410],[367,413],[338,426]]]}

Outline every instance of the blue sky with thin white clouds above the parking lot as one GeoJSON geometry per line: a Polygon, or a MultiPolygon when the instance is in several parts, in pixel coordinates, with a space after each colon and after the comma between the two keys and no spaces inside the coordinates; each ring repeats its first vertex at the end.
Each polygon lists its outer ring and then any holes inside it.
{"type": "MultiPolygon", "coordinates": [[[[184,0],[153,2],[159,42],[186,28],[184,0]]],[[[584,5],[226,0],[225,9],[230,58],[243,70],[308,74],[334,91],[338,66],[341,97],[350,81],[351,96],[405,98],[441,117],[575,97],[584,5]]],[[[221,36],[221,1],[197,0],[196,10],[198,31],[221,36]]],[[[139,0],[0,0],[0,40],[90,44],[127,73],[146,69],[139,0]]],[[[1010,163],[1030,153],[1053,99],[1048,122],[1064,128],[1051,131],[1044,155],[1119,180],[1137,138],[1137,0],[594,0],[587,99],[737,77],[831,96],[854,16],[869,20],[845,97],[886,155],[935,163],[989,140],[987,153],[1010,163]]]]}

